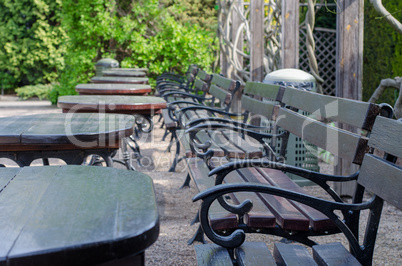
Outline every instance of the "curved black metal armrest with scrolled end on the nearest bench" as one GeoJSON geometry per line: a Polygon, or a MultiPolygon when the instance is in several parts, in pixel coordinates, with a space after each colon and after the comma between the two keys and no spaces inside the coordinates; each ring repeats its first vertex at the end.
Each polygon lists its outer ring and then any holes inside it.
{"type": "MultiPolygon", "coordinates": [[[[325,214],[329,219],[331,219],[338,228],[345,234],[349,243],[353,249],[353,252],[357,254],[361,254],[362,250],[360,249],[359,241],[356,239],[352,231],[345,224],[341,218],[335,214],[336,210],[340,210],[345,216],[348,216],[350,211],[360,211],[364,209],[371,209],[379,201],[382,201],[378,197],[374,196],[369,201],[360,203],[360,204],[348,204],[343,202],[333,202],[324,199],[315,198],[309,195],[305,195],[302,193],[289,191],[286,189],[264,185],[264,184],[255,184],[255,183],[240,183],[240,184],[222,184],[217,185],[215,187],[204,190],[201,193],[198,193],[193,201],[203,200],[199,217],[201,222],[201,227],[204,233],[211,239],[214,243],[223,246],[225,248],[236,248],[239,247],[245,240],[245,232],[241,229],[237,229],[231,235],[222,236],[215,233],[209,223],[208,210],[211,204],[219,198],[222,198],[225,194],[235,193],[235,192],[258,192],[258,193],[267,193],[270,195],[284,197],[290,200],[294,200],[305,205],[308,205],[323,214],[325,214]]],[[[242,204],[244,204],[243,202],[242,204]]],[[[240,205],[238,205],[240,206],[240,205]]]]}

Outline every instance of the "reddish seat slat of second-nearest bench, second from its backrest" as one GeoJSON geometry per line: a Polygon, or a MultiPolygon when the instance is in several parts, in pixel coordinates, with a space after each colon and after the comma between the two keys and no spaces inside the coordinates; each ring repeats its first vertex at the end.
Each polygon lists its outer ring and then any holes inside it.
{"type": "MultiPolygon", "coordinates": [[[[255,168],[237,170],[247,182],[269,184],[255,168]]],[[[276,222],[285,230],[307,231],[309,220],[288,200],[269,194],[259,194],[260,198],[276,216],[276,222]]]]}

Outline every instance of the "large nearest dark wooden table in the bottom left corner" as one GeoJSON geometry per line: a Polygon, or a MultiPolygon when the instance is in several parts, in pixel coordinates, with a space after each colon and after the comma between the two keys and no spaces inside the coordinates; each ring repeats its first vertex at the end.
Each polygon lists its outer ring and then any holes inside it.
{"type": "Polygon", "coordinates": [[[0,168],[0,265],[144,265],[152,179],[95,166],[0,168]]]}

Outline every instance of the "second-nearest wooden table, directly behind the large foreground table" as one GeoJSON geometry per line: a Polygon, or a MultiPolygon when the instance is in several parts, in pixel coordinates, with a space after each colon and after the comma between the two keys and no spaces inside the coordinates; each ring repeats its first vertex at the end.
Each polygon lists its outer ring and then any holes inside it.
{"type": "Polygon", "coordinates": [[[89,155],[98,155],[113,166],[111,157],[120,140],[133,133],[134,122],[132,116],[99,113],[2,117],[0,157],[29,166],[36,159],[48,164],[48,158],[82,164],[89,155]]]}

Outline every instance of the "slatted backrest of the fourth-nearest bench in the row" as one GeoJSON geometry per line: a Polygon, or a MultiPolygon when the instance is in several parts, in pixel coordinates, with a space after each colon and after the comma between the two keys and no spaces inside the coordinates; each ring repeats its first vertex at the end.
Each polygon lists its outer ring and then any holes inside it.
{"type": "Polygon", "coordinates": [[[240,81],[213,74],[208,93],[213,98],[213,105],[220,105],[225,111],[229,111],[234,94],[239,88],[240,81]]]}

